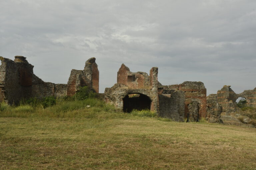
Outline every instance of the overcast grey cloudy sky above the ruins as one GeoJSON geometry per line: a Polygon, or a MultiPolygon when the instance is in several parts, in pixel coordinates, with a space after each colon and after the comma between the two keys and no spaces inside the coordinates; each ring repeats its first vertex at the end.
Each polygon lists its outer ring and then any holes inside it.
{"type": "Polygon", "coordinates": [[[0,0],[0,56],[27,57],[46,82],[96,57],[100,92],[122,63],[163,85],[256,87],[255,0],[0,0]]]}

